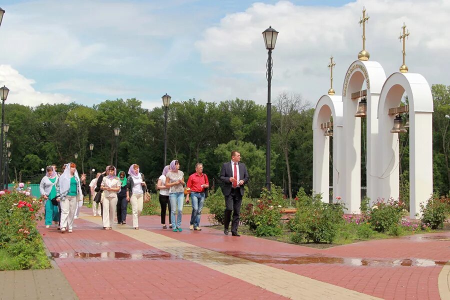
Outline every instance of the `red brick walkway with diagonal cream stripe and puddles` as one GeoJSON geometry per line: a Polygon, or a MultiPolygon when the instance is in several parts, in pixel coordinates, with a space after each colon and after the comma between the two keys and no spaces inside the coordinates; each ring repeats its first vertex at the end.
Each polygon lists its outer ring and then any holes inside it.
{"type": "Polygon", "coordinates": [[[106,231],[82,215],[73,233],[39,226],[79,299],[450,298],[450,232],[320,250],[191,231],[188,215],[182,232],[158,216],[106,231]]]}

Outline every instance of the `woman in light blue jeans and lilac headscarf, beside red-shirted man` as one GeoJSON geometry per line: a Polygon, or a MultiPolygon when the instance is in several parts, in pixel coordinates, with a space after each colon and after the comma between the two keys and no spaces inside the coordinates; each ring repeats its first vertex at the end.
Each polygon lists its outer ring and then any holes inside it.
{"type": "Polygon", "coordinates": [[[183,216],[183,200],[184,200],[184,173],[179,170],[178,160],[170,162],[170,170],[165,175],[165,186],[169,187],[170,200],[170,219],[173,225],[173,231],[183,231],[181,228],[181,218],[183,216]],[[178,208],[178,209],[177,209],[178,208]],[[178,215],[175,218],[175,212],[178,215]]]}

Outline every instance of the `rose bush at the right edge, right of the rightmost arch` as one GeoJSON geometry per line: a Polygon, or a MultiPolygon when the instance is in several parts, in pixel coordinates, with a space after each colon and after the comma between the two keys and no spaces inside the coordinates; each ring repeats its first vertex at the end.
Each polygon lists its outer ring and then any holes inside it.
{"type": "Polygon", "coordinates": [[[439,197],[435,194],[428,199],[426,205],[420,203],[420,212],[422,213],[420,219],[422,227],[442,228],[448,213],[450,213],[450,198],[439,197]]]}

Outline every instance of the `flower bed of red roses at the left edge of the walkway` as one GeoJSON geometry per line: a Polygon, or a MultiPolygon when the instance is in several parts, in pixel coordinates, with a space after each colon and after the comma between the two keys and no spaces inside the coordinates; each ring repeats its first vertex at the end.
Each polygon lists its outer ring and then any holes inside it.
{"type": "Polygon", "coordinates": [[[0,190],[0,270],[50,267],[36,228],[41,206],[23,183],[0,190]]]}

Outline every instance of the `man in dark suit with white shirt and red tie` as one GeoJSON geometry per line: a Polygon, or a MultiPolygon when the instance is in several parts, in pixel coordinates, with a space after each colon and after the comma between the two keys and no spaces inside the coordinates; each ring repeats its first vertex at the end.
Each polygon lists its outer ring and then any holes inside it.
{"type": "Polygon", "coordinates": [[[223,194],[225,195],[225,230],[223,230],[223,233],[225,235],[228,235],[228,226],[232,211],[231,235],[240,236],[237,233],[237,226],[239,225],[240,205],[244,193],[243,185],[248,182],[249,178],[245,164],[239,161],[240,153],[232,151],[231,161],[225,162],[220,171],[220,180],[225,183],[223,186],[223,194]]]}

